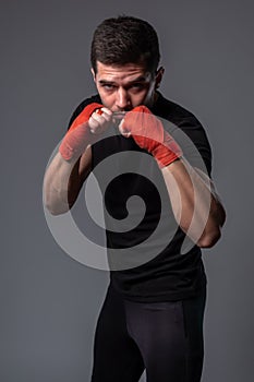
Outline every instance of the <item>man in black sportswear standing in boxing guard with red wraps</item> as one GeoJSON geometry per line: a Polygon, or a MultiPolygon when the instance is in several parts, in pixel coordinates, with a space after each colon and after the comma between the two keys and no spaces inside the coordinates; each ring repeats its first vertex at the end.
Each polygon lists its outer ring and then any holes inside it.
{"type": "Polygon", "coordinates": [[[164,69],[158,69],[157,34],[147,22],[105,20],[95,31],[90,59],[98,95],[85,99],[71,118],[46,172],[45,203],[51,214],[62,214],[90,171],[104,188],[104,172],[129,169],[134,158],[134,169],[112,179],[104,195],[105,211],[114,218],[110,223],[106,214],[111,272],[96,329],[92,381],[137,382],[146,369],[149,382],[197,382],[206,296],[201,248],[218,241],[225,223],[225,210],[205,175],[210,176],[209,143],[196,118],[157,91],[164,69]],[[167,121],[189,136],[206,169],[190,154],[189,141],[176,141],[167,121]],[[96,172],[117,154],[122,156],[116,165],[96,172]],[[116,222],[126,218],[133,195],[145,201],[145,214],[133,228],[141,217],[137,203],[129,211],[133,220],[118,231],[116,222]],[[161,202],[166,196],[167,204],[161,202]],[[192,246],[182,253],[186,237],[192,246]]]}

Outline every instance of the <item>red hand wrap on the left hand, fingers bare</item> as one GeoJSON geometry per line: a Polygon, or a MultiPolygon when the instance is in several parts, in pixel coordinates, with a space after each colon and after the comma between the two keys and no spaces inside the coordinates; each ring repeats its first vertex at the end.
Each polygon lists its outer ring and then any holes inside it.
{"type": "Polygon", "coordinates": [[[101,107],[104,106],[100,104],[89,104],[73,121],[59,146],[59,152],[63,159],[77,159],[87,145],[96,141],[96,135],[89,130],[88,120],[93,112],[101,107]]]}

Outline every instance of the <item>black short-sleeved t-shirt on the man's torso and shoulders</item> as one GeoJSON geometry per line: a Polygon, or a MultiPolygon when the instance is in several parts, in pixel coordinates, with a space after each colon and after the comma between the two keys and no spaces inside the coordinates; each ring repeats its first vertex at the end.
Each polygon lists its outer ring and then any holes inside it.
{"type": "MultiPolygon", "coordinates": [[[[76,108],[69,126],[94,102],[101,103],[98,95],[76,108]]],[[[198,120],[160,93],[150,110],[188,162],[210,176],[210,146],[198,120]]],[[[92,155],[93,172],[102,190],[112,286],[126,299],[147,302],[198,294],[206,283],[201,249],[178,227],[153,156],[114,127],[92,146],[92,155]]]]}

